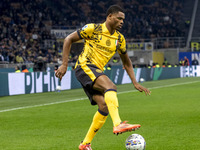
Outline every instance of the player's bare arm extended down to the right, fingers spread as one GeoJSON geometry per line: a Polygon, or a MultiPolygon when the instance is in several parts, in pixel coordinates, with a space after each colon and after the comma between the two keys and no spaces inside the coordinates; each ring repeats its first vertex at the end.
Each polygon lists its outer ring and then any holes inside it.
{"type": "Polygon", "coordinates": [[[121,60],[123,62],[123,66],[126,70],[126,72],[128,73],[129,77],[131,78],[131,81],[133,83],[133,85],[135,86],[135,88],[140,91],[140,92],[145,92],[146,95],[150,95],[151,91],[149,91],[147,88],[143,87],[142,85],[140,85],[135,78],[135,73],[133,71],[133,66],[131,63],[131,60],[128,56],[128,54],[120,54],[121,60]]]}

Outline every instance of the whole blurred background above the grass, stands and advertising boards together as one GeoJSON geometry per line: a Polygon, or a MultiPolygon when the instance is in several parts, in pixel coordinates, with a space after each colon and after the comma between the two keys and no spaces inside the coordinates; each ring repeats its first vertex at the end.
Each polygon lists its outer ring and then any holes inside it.
{"type": "MultiPolygon", "coordinates": [[[[62,63],[63,39],[87,23],[103,22],[112,4],[125,10],[121,32],[138,81],[200,76],[198,0],[1,0],[0,95],[54,91],[60,84],[53,72],[62,63]],[[21,71],[29,73],[11,74],[21,71]]],[[[72,45],[70,75],[61,83],[62,89],[80,87],[73,66],[83,42],[72,45]]],[[[130,82],[118,54],[105,72],[117,84],[130,82]]]]}

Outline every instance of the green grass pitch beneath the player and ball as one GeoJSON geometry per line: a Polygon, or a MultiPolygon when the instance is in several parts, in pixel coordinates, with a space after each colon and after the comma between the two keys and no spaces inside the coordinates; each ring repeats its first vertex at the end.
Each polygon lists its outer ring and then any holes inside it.
{"type": "MultiPolygon", "coordinates": [[[[200,78],[118,86],[122,120],[141,124],[135,132],[112,133],[108,117],[92,141],[94,150],[125,150],[132,133],[141,134],[147,150],[200,150],[200,78]]],[[[1,150],[77,150],[97,107],[82,89],[0,97],[1,150]]]]}

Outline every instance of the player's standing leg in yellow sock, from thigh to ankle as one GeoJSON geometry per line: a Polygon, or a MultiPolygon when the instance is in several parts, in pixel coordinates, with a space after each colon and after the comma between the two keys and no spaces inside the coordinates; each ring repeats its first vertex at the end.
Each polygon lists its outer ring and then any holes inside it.
{"type": "Polygon", "coordinates": [[[93,95],[93,100],[97,103],[98,105],[98,111],[95,113],[93,117],[92,124],[83,140],[80,146],[89,146],[96,135],[97,131],[101,129],[103,124],[105,123],[107,116],[108,116],[108,108],[107,105],[104,101],[104,96],[103,95],[93,95]]]}

